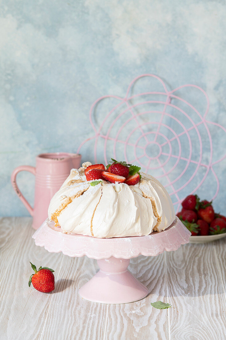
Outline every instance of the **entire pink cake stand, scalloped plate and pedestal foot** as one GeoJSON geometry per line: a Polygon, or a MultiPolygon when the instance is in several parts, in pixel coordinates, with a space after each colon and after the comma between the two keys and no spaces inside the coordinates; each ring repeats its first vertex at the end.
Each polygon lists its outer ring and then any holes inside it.
{"type": "Polygon", "coordinates": [[[190,235],[176,217],[161,233],[115,238],[63,234],[61,228],[54,227],[54,222],[47,219],[32,237],[36,245],[44,246],[51,253],[97,259],[100,270],[80,288],[79,294],[93,302],[121,304],[138,301],[148,294],[147,287],[127,270],[130,258],[177,250],[181,244],[189,242],[190,235]]]}

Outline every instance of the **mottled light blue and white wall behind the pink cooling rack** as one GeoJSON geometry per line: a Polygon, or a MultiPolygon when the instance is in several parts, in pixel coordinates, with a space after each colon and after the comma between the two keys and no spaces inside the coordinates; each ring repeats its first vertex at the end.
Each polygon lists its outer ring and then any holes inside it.
{"type": "MultiPolygon", "coordinates": [[[[93,101],[123,97],[139,74],[157,74],[169,89],[203,87],[208,120],[226,126],[225,1],[3,0],[0,11],[1,215],[28,215],[11,187],[12,170],[35,165],[38,153],[76,152],[93,135],[93,101]]],[[[217,159],[225,137],[211,133],[217,159]]],[[[93,153],[84,148],[87,158],[93,153]]],[[[214,206],[222,213],[225,165],[214,167],[220,180],[214,206]]],[[[18,183],[32,202],[33,176],[21,173],[18,183]]],[[[200,193],[209,198],[210,187],[211,180],[200,193]]]]}

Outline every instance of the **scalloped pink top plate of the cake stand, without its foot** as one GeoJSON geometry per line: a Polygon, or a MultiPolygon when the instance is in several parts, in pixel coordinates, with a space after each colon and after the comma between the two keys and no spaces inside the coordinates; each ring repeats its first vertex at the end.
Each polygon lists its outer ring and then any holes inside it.
{"type": "Polygon", "coordinates": [[[164,251],[177,250],[189,242],[190,232],[176,217],[164,231],[147,236],[95,238],[91,236],[64,234],[54,222],[46,219],[32,238],[38,246],[50,253],[62,252],[70,257],[88,256],[94,259],[110,257],[130,259],[139,255],[157,256],[164,251]]]}

